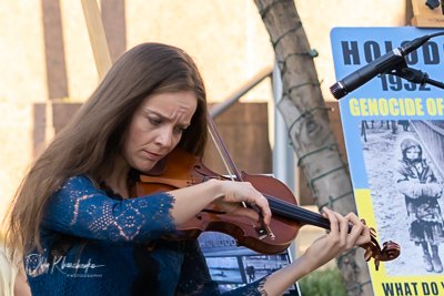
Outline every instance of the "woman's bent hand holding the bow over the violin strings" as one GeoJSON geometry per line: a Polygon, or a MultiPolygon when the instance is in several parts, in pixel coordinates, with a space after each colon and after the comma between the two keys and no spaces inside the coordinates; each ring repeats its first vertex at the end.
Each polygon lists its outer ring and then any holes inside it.
{"type": "Polygon", "coordinates": [[[262,212],[265,224],[270,224],[271,210],[269,201],[250,182],[218,181],[222,188],[222,196],[214,200],[214,203],[224,212],[233,215],[246,216],[259,221],[259,214],[244,207],[241,203],[255,204],[262,212]]]}

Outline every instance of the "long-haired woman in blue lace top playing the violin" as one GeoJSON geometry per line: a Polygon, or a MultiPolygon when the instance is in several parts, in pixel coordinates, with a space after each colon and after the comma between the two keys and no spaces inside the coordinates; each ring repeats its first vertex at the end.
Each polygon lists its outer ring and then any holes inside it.
{"type": "MultiPolygon", "coordinates": [[[[198,242],[165,235],[210,203],[268,224],[268,200],[248,182],[220,180],[129,198],[133,173],[148,173],[175,146],[202,155],[206,123],[204,84],[185,52],[144,43],[123,54],[32,164],[14,197],[8,236],[23,255],[32,293],[219,294],[198,242]],[[254,203],[262,217],[240,202],[254,203]]],[[[305,254],[228,295],[281,295],[302,276],[370,242],[356,215],[329,208],[323,215],[331,232],[305,254]]]]}

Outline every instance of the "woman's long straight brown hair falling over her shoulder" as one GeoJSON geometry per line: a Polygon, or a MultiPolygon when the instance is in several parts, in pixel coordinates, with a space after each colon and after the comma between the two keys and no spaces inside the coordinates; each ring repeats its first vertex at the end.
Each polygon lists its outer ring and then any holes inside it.
{"type": "Polygon", "coordinates": [[[150,94],[191,90],[198,108],[179,146],[202,155],[206,143],[206,94],[193,60],[181,49],[143,43],[124,53],[69,124],[31,165],[9,207],[12,251],[41,251],[39,226],[51,193],[79,174],[102,180],[121,153],[135,109],[150,94]]]}

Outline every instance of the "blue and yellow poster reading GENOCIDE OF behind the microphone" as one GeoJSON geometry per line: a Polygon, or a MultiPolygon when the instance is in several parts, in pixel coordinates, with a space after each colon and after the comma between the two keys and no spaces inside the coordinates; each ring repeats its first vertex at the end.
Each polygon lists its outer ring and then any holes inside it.
{"type": "MultiPolygon", "coordinates": [[[[436,32],[440,30],[412,27],[335,28],[331,41],[336,79],[342,80],[405,41],[436,32]]],[[[428,40],[407,57],[408,67],[442,82],[443,43],[443,37],[428,40]]],[[[393,241],[401,246],[400,257],[381,263],[379,272],[369,265],[376,296],[444,295],[444,272],[426,271],[421,243],[411,241],[416,214],[407,213],[407,198],[398,185],[401,143],[413,139],[422,147],[427,170],[443,186],[443,98],[444,91],[436,86],[379,75],[339,102],[359,215],[376,229],[380,243],[393,241]]],[[[435,197],[436,206],[444,210],[444,197],[435,197]]],[[[437,249],[444,263],[444,242],[437,249]]]]}

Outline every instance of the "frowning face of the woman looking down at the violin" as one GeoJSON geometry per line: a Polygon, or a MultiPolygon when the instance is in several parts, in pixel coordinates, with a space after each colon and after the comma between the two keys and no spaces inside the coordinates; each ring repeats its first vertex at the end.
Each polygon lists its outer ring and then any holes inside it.
{"type": "Polygon", "coordinates": [[[192,91],[147,96],[135,110],[127,134],[123,157],[140,172],[150,171],[179,143],[198,105],[192,91]]]}

